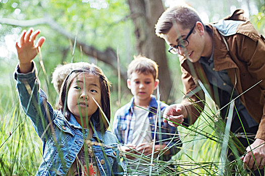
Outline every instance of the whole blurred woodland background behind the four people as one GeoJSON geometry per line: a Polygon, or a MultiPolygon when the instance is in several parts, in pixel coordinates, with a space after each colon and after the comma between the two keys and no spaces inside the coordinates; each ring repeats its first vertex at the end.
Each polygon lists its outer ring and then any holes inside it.
{"type": "Polygon", "coordinates": [[[167,52],[165,41],[155,36],[154,25],[166,8],[182,3],[195,8],[204,23],[241,8],[265,33],[264,0],[0,0],[0,175],[32,175],[40,162],[41,143],[20,109],[13,78],[18,61],[15,42],[22,30],[40,29],[40,36],[46,38],[41,49],[46,74],[40,71],[39,77],[52,105],[58,97],[50,83],[55,67],[85,61],[99,65],[112,82],[113,117],[132,97],[126,70],[133,55],[155,60],[161,100],[180,102],[178,56],[167,52]]]}

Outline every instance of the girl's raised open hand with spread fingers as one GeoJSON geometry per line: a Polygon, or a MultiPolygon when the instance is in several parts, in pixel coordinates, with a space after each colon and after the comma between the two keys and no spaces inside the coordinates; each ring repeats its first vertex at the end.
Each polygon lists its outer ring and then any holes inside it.
{"type": "Polygon", "coordinates": [[[28,31],[24,30],[21,34],[20,46],[18,42],[16,42],[19,59],[19,70],[21,73],[27,73],[31,71],[31,62],[38,53],[38,47],[41,47],[45,41],[44,37],[40,37],[37,43],[34,43],[39,33],[39,30],[33,32],[33,28],[30,28],[28,31]]]}

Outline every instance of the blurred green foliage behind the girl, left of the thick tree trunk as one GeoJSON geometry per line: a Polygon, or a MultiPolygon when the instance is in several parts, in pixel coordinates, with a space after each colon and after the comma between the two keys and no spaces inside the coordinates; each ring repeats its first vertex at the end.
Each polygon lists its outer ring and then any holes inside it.
{"type": "MultiPolygon", "coordinates": [[[[119,57],[123,67],[136,54],[133,36],[133,24],[128,18],[130,15],[129,6],[122,0],[115,1],[0,1],[0,18],[11,18],[18,20],[29,20],[52,17],[62,28],[77,35],[77,38],[88,45],[92,45],[99,50],[111,47],[114,50],[119,49],[119,57]],[[83,3],[84,2],[84,3],[83,3]],[[20,11],[20,12],[19,12],[20,11]],[[19,12],[19,13],[18,13],[19,12]]],[[[10,35],[15,41],[24,29],[10,25],[0,25],[0,36],[2,42],[6,42],[4,36],[10,35]]],[[[47,25],[33,26],[34,29],[40,29],[41,36],[45,36],[46,41],[42,47],[42,56],[45,69],[51,79],[51,73],[57,64],[62,62],[71,62],[73,44],[67,38],[53,31],[47,25]],[[64,52],[67,52],[63,58],[64,52]]],[[[7,43],[7,42],[6,42],[7,43]]],[[[14,43],[15,44],[15,43],[14,43]]],[[[15,45],[13,45],[15,46],[15,45]]],[[[1,58],[5,62],[0,68],[7,74],[12,74],[13,68],[5,65],[14,65],[17,62],[15,50],[9,51],[9,59],[1,58]]],[[[94,58],[88,57],[75,50],[74,61],[87,61],[98,64],[108,78],[112,81],[113,102],[117,101],[118,80],[112,68],[94,58]]],[[[12,75],[11,75],[12,77],[12,75]]],[[[43,82],[43,76],[40,74],[40,80],[43,82]]],[[[123,85],[125,85],[123,83],[123,85]]],[[[1,85],[0,85],[1,86],[1,85]]],[[[127,91],[126,86],[122,86],[127,91]]],[[[0,87],[0,89],[2,89],[0,87]]],[[[53,91],[54,92],[54,91],[53,91]]],[[[128,91],[125,92],[128,94],[128,91]]],[[[55,95],[56,93],[52,93],[55,95]]],[[[50,95],[49,95],[50,97],[50,95]]],[[[126,96],[125,96],[126,97],[126,96]]],[[[125,98],[124,97],[124,98],[125,98]]],[[[128,100],[128,99],[127,99],[128,100]]],[[[117,108],[116,108],[117,109],[117,108]]],[[[115,111],[114,111],[115,112],[115,111]]]]}

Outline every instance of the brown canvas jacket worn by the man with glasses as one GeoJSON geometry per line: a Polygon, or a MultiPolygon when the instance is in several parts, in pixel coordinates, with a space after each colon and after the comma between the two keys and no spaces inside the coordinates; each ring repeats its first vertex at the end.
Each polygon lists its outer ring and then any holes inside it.
{"type": "MultiPolygon", "coordinates": [[[[215,70],[226,69],[239,95],[262,80],[252,89],[246,91],[240,99],[248,113],[259,123],[255,138],[265,140],[265,40],[254,29],[253,25],[243,17],[243,10],[236,10],[224,20],[239,20],[245,23],[238,25],[236,34],[224,37],[216,27],[208,24],[214,36],[215,70]],[[224,38],[223,38],[224,37],[224,38]]],[[[204,99],[204,93],[198,86],[198,79],[204,84],[213,100],[213,88],[199,62],[192,63],[180,57],[182,81],[186,94],[182,104],[186,105],[189,124],[193,124],[204,108],[203,102],[194,106],[193,102],[204,99]],[[195,94],[195,95],[194,95],[195,94]]]]}

